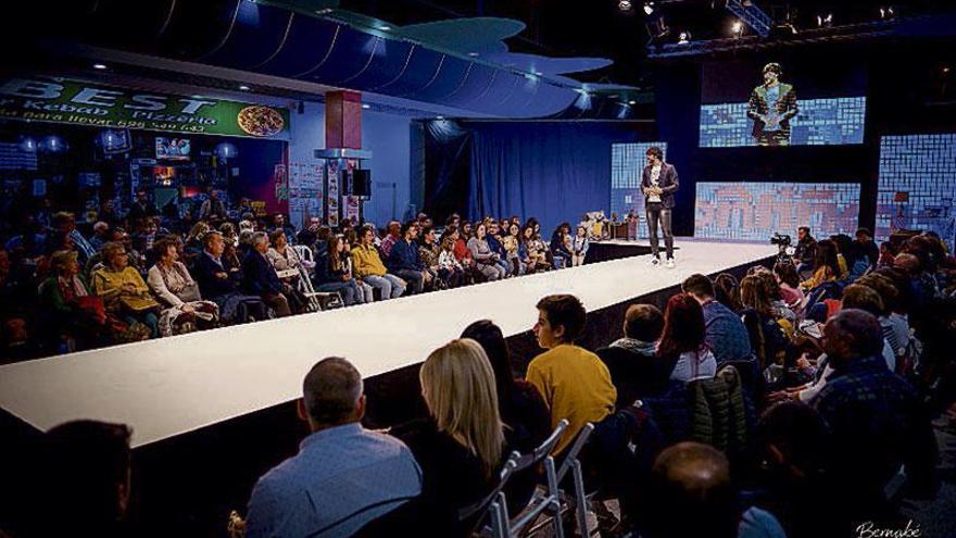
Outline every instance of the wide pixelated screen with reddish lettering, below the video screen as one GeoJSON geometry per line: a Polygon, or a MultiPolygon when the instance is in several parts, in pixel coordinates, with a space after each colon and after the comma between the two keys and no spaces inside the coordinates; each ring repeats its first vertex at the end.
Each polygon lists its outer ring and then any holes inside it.
{"type": "Polygon", "coordinates": [[[699,182],[694,237],[768,241],[775,232],[796,237],[853,235],[859,221],[857,183],[699,182]]]}

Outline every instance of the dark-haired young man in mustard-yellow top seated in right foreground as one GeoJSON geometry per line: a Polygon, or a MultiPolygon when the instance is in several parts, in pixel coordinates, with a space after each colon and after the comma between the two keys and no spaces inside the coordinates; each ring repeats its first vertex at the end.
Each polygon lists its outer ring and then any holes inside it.
{"type": "Polygon", "coordinates": [[[614,411],[617,390],[611,373],[594,353],[575,346],[584,330],[587,312],[577,297],[548,296],[538,301],[534,337],[546,349],[528,365],[527,380],[541,392],[551,411],[551,427],[562,418],[568,427],[554,453],[566,449],[588,422],[600,422],[614,411]]]}

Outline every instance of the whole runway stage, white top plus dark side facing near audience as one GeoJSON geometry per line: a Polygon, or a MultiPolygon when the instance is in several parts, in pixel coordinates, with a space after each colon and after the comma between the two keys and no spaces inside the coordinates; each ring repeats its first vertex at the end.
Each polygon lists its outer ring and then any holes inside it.
{"type": "MultiPolygon", "coordinates": [[[[574,293],[588,309],[582,346],[617,338],[624,311],[640,300],[663,306],[692,273],[738,276],[770,263],[771,245],[677,239],[677,268],[647,257],[530,275],[424,296],[260,322],[0,367],[0,476],[32,484],[37,429],[74,418],[133,426],[134,516],[169,534],[219,535],[244,511],[255,479],[295,453],[307,434],[295,415],[302,377],[342,355],[366,378],[366,425],[425,415],[418,364],[480,318],[508,337],[516,370],[539,353],[529,329],[534,304],[574,293]],[[7,468],[4,468],[7,467],[7,468]]],[[[11,510],[24,502],[10,487],[11,510]]]]}

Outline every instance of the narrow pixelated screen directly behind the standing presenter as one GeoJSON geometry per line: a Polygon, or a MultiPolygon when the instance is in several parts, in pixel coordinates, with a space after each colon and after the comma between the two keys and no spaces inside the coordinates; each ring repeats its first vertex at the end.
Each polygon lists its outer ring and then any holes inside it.
{"type": "MultiPolygon", "coordinates": [[[[640,218],[638,237],[647,234],[644,215],[644,196],[641,193],[641,174],[647,164],[647,148],[656,146],[667,160],[667,142],[638,142],[611,145],[611,213],[622,221],[628,211],[640,218]]],[[[680,171],[678,170],[678,174],[680,171]]],[[[611,215],[607,215],[608,218],[611,215]]]]}

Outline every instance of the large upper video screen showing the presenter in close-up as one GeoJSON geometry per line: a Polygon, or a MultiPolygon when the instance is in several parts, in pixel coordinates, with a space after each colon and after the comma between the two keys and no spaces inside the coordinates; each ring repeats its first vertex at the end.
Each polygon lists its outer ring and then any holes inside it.
{"type": "Polygon", "coordinates": [[[863,143],[866,71],[839,62],[705,63],[701,148],[863,143]]]}

